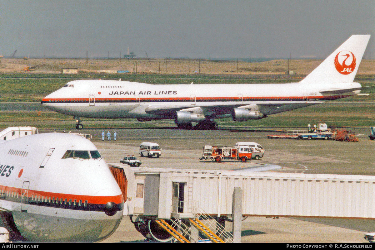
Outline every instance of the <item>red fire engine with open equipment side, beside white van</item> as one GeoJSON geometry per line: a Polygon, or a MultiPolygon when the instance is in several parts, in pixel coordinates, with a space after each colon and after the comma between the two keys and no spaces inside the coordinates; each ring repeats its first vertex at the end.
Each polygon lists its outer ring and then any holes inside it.
{"type": "Polygon", "coordinates": [[[238,160],[246,162],[251,160],[252,154],[250,147],[238,146],[238,147],[220,147],[220,146],[203,146],[202,157],[200,160],[212,160],[216,162],[238,160]]]}

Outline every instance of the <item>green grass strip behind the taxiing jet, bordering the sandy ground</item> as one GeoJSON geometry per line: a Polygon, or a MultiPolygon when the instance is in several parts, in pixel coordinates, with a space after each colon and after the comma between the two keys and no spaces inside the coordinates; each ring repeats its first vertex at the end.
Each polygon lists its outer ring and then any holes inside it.
{"type": "MultiPolygon", "coordinates": [[[[39,102],[43,97],[61,88],[67,82],[78,79],[114,79],[150,84],[209,84],[209,83],[286,83],[298,82],[301,77],[285,75],[205,75],[205,74],[0,74],[0,102],[39,102]]],[[[373,85],[372,76],[361,75],[356,81],[363,86],[373,85]]],[[[366,93],[375,93],[368,89],[366,93]]],[[[346,101],[373,100],[372,95],[350,97],[346,101]]]]}

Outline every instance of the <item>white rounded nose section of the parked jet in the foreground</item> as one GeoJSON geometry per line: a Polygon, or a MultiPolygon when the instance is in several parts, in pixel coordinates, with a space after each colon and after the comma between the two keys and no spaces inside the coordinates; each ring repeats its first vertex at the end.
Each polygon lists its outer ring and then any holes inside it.
{"type": "Polygon", "coordinates": [[[109,237],[124,199],[94,144],[43,133],[0,144],[0,215],[11,237],[95,242],[109,237]]]}

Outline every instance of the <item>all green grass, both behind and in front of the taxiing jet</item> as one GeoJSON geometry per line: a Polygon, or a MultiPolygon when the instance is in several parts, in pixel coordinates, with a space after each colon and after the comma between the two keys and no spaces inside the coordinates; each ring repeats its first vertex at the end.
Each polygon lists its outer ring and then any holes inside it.
{"type": "MultiPolygon", "coordinates": [[[[39,102],[49,93],[61,88],[67,82],[77,79],[115,79],[145,82],[151,84],[196,84],[208,83],[285,83],[298,82],[300,77],[290,78],[285,75],[205,75],[205,74],[37,74],[37,73],[7,73],[0,74],[0,102],[39,102]]],[[[363,86],[374,85],[373,77],[360,75],[356,79],[363,86]]],[[[373,126],[375,124],[374,101],[375,88],[366,89],[362,93],[369,95],[353,96],[328,104],[318,104],[311,107],[292,110],[271,115],[261,120],[233,122],[231,119],[217,119],[219,126],[285,126],[305,127],[308,123],[326,122],[329,126],[373,126]],[[366,103],[358,105],[358,103],[366,103]]],[[[71,116],[54,112],[43,112],[37,116],[35,112],[0,112],[1,122],[28,122],[43,127],[46,121],[66,121],[68,127],[74,127],[75,121],[71,116]]],[[[90,119],[83,118],[85,128],[106,127],[109,124],[118,128],[133,127],[163,127],[175,126],[171,120],[137,122],[135,119],[90,119]],[[98,121],[98,122],[96,122],[98,121]]],[[[53,125],[59,128],[61,124],[53,125]]]]}

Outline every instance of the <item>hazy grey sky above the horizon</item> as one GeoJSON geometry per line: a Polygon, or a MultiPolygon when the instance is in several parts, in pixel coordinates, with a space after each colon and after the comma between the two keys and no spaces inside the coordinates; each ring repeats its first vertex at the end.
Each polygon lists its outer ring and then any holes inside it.
{"type": "Polygon", "coordinates": [[[325,58],[371,34],[374,0],[0,0],[0,54],[16,57],[325,58]]]}

